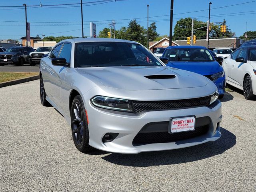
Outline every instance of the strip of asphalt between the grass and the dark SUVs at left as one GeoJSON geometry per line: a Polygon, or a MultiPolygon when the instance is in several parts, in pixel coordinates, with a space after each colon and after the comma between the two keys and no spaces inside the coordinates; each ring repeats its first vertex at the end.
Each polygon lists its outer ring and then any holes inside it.
{"type": "Polygon", "coordinates": [[[39,64],[36,66],[30,66],[29,64],[24,64],[24,66],[16,65],[5,65],[0,66],[0,72],[39,72],[39,64]]]}

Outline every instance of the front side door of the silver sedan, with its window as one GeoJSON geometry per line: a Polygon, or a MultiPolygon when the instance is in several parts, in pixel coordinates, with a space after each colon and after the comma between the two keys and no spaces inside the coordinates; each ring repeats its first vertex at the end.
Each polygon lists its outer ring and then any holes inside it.
{"type": "MultiPolygon", "coordinates": [[[[67,64],[70,64],[71,57],[71,43],[64,42],[63,46],[58,54],[59,58],[65,58],[67,64]]],[[[61,86],[62,81],[65,79],[66,70],[69,68],[68,66],[58,66],[52,65],[52,90],[53,92],[53,101],[56,105],[61,107],[61,86]]]]}

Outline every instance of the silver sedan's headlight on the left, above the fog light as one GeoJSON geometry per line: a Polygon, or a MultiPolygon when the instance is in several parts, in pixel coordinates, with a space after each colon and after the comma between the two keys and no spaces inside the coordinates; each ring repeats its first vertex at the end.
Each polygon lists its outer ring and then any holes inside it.
{"type": "Polygon", "coordinates": [[[91,102],[94,106],[104,108],[104,109],[134,112],[132,109],[131,101],[126,99],[95,96],[94,98],[91,99],[91,102]]]}

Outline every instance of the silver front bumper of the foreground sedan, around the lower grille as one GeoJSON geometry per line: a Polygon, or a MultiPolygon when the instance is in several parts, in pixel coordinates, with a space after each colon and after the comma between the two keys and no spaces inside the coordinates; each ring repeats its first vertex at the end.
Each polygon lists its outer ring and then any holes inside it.
{"type": "MultiPolygon", "coordinates": [[[[171,150],[202,144],[208,141],[215,141],[220,138],[219,129],[222,120],[221,102],[216,101],[212,108],[196,107],[177,110],[148,111],[142,114],[125,114],[95,108],[86,102],[86,109],[89,119],[90,146],[116,153],[137,154],[140,152],[171,150]],[[168,143],[152,143],[135,146],[133,140],[142,127],[151,122],[166,122],[171,117],[192,116],[196,118],[209,117],[209,130],[206,134],[168,143]],[[118,133],[112,142],[102,142],[106,133],[118,133]]],[[[157,127],[156,127],[157,129],[157,127]]]]}

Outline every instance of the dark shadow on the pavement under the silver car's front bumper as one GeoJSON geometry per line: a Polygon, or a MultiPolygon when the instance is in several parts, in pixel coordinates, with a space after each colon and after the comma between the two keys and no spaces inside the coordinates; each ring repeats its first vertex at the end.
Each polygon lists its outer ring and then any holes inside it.
{"type": "Polygon", "coordinates": [[[220,128],[222,136],[215,142],[207,142],[188,148],[142,152],[139,154],[110,153],[102,159],[123,166],[148,167],[180,164],[209,158],[224,153],[236,144],[236,136],[224,128],[220,128]]]}

